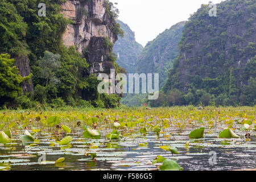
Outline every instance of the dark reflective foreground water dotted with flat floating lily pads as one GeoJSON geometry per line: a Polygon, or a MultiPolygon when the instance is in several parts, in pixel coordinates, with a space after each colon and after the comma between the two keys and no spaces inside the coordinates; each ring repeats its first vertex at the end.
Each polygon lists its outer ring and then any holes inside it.
{"type": "MultiPolygon", "coordinates": [[[[12,151],[1,145],[0,170],[157,170],[161,164],[151,163],[157,155],[176,160],[186,171],[256,168],[255,136],[250,140],[220,139],[218,131],[214,131],[205,133],[204,139],[189,140],[189,131],[170,130],[166,138],[163,134],[158,137],[155,133],[126,133],[125,138],[110,141],[104,131],[98,140],[85,139],[81,129],[72,131],[69,135],[73,141],[68,146],[59,146],[50,133],[36,134],[38,147],[25,146],[26,154],[21,145],[12,151]],[[189,146],[185,147],[188,141],[189,146]],[[163,145],[177,147],[179,154],[159,148],[163,145]],[[96,154],[97,158],[92,159],[89,154],[96,154]],[[216,154],[216,160],[209,154],[216,154]],[[63,163],[55,164],[63,157],[63,163]]],[[[19,135],[13,138],[14,145],[19,135]]]]}

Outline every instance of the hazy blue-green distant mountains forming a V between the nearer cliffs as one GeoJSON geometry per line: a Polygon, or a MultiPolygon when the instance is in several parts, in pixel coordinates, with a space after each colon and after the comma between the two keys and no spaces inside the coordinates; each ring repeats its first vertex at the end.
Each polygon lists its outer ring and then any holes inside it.
{"type": "MultiPolygon", "coordinates": [[[[119,56],[117,63],[130,73],[159,73],[159,89],[163,86],[172,68],[174,60],[179,56],[178,43],[186,22],[179,22],[148,42],[146,47],[136,46],[134,32],[127,24],[121,24],[125,38],[119,38],[114,46],[114,52],[119,56]],[[128,39],[130,37],[130,39],[128,39]],[[128,45],[128,46],[127,46],[128,45]],[[135,45],[135,46],[131,46],[135,45]],[[137,51],[134,51],[138,47],[137,51]],[[127,51],[130,50],[130,51],[127,51]],[[129,55],[131,52],[131,55],[129,55]],[[138,54],[140,52],[140,54],[138,54]],[[122,55],[122,56],[121,56],[122,55]],[[136,61],[135,57],[137,57],[136,61]]],[[[146,94],[130,94],[122,98],[122,104],[141,106],[146,102],[146,94]]]]}

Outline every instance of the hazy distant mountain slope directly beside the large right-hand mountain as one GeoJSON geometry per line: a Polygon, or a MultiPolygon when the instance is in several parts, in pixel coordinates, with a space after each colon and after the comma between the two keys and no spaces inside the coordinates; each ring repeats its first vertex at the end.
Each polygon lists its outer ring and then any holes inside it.
{"type": "Polygon", "coordinates": [[[136,64],[137,73],[159,73],[159,86],[167,79],[168,70],[179,56],[180,42],[185,22],[179,22],[147,43],[136,64]]]}

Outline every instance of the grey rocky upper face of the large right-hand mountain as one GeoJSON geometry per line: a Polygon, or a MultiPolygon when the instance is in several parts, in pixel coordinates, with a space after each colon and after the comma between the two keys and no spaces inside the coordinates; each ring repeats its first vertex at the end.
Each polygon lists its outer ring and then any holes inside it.
{"type": "Polygon", "coordinates": [[[255,1],[254,5],[252,2],[222,2],[217,5],[216,17],[210,17],[208,6],[204,5],[192,16],[180,46],[180,81],[184,92],[191,77],[216,78],[231,68],[237,69],[237,86],[247,82],[241,80],[242,73],[255,56],[256,43],[255,1]],[[195,26],[199,18],[200,26],[195,26]]]}

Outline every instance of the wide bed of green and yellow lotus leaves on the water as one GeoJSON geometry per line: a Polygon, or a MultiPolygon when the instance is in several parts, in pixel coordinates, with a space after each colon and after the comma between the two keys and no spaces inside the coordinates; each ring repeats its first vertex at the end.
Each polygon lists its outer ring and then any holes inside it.
{"type": "Polygon", "coordinates": [[[0,170],[256,167],[255,107],[0,111],[0,170]]]}

